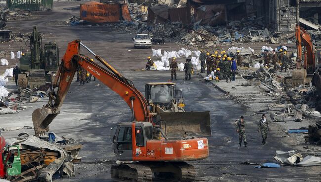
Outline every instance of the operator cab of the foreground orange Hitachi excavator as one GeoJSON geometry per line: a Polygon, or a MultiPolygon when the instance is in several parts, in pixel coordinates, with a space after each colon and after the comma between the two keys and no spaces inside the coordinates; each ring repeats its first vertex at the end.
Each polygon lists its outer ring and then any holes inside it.
{"type": "Polygon", "coordinates": [[[112,128],[111,142],[116,157],[131,161],[146,157],[146,142],[153,139],[153,125],[148,122],[125,122],[112,128]]]}

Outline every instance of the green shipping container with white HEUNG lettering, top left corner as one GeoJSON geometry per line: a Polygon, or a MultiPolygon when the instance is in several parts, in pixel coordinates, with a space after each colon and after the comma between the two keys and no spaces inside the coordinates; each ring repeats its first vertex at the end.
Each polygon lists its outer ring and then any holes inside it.
{"type": "Polygon", "coordinates": [[[9,9],[46,11],[52,9],[53,0],[7,0],[9,9]]]}

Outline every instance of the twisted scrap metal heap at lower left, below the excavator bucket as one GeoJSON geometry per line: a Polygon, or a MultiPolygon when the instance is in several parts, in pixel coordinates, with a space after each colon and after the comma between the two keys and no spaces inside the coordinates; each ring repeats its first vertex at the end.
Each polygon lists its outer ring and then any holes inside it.
{"type": "Polygon", "coordinates": [[[7,140],[7,150],[13,154],[9,160],[12,167],[7,171],[11,182],[51,182],[52,179],[75,176],[74,162],[80,162],[77,156],[81,145],[70,141],[73,140],[54,133],[49,133],[45,139],[21,133],[18,139],[7,140]]]}

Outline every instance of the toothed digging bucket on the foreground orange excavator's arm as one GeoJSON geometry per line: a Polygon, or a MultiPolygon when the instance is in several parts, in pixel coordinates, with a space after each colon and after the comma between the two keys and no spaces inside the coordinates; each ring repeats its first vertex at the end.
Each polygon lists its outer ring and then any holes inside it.
{"type": "Polygon", "coordinates": [[[34,130],[36,136],[44,135],[49,131],[49,124],[58,114],[53,114],[51,108],[43,107],[36,109],[32,113],[32,122],[34,124],[34,130]]]}

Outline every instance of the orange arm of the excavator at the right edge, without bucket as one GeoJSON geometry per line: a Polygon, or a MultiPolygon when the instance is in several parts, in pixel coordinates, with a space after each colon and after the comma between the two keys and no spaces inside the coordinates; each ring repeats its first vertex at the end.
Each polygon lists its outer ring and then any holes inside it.
{"type": "Polygon", "coordinates": [[[296,48],[297,48],[297,63],[296,68],[301,69],[301,59],[302,59],[302,43],[305,47],[304,51],[304,68],[308,72],[314,72],[316,69],[315,54],[313,51],[313,46],[311,42],[311,37],[306,30],[300,27],[298,24],[295,27],[295,37],[296,37],[296,48]]]}

